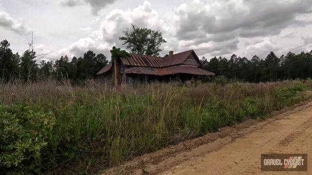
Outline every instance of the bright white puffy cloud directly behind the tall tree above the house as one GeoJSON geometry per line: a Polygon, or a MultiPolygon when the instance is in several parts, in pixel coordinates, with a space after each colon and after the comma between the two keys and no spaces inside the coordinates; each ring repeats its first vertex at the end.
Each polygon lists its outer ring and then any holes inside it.
{"type": "Polygon", "coordinates": [[[144,1],[142,5],[134,9],[112,10],[101,22],[99,30],[90,32],[88,37],[80,38],[59,53],[82,55],[88,50],[93,50],[95,53],[105,53],[110,58],[109,51],[113,46],[124,47],[118,37],[122,36],[123,31],[132,23],[138,27],[148,27],[155,30],[162,29],[163,25],[163,21],[158,18],[158,13],[152,8],[152,4],[144,1]]]}

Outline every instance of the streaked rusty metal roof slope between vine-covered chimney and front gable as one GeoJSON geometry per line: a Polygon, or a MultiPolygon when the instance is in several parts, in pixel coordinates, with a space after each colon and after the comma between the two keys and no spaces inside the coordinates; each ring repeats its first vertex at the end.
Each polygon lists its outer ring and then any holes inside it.
{"type": "Polygon", "coordinates": [[[161,67],[162,59],[162,57],[131,53],[131,57],[121,58],[121,61],[127,66],[159,68],[161,67]]]}

